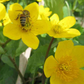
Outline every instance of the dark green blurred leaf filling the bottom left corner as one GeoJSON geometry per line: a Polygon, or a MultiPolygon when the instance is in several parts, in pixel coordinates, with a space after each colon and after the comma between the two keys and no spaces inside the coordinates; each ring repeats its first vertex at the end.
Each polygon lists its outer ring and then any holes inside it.
{"type": "Polygon", "coordinates": [[[0,68],[0,84],[15,84],[17,72],[7,65],[0,68]]]}

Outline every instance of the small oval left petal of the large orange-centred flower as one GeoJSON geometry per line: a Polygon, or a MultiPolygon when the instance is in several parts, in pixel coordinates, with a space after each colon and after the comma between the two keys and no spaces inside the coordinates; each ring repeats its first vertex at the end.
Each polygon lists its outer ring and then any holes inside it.
{"type": "Polygon", "coordinates": [[[46,59],[44,64],[44,73],[46,77],[50,77],[53,72],[55,72],[56,63],[57,62],[52,55],[46,59]]]}

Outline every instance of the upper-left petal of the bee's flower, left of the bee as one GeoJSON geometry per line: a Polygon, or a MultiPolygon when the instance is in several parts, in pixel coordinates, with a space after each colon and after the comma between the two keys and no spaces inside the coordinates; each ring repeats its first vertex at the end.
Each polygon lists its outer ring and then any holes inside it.
{"type": "Polygon", "coordinates": [[[8,14],[9,14],[9,17],[11,19],[11,21],[14,23],[14,24],[20,24],[20,20],[16,18],[22,14],[22,11],[23,11],[23,8],[20,4],[18,3],[14,3],[12,5],[10,5],[10,9],[8,11],[8,14]]]}

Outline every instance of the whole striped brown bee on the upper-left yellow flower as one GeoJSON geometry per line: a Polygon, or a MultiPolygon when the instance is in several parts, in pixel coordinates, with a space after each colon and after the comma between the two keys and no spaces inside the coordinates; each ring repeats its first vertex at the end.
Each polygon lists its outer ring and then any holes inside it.
{"type": "MultiPolygon", "coordinates": [[[[22,10],[17,10],[17,11],[22,11],[22,10]]],[[[30,13],[27,10],[23,10],[22,14],[18,14],[16,20],[20,17],[20,23],[21,26],[28,26],[29,25],[29,17],[30,17],[30,13]]]]}

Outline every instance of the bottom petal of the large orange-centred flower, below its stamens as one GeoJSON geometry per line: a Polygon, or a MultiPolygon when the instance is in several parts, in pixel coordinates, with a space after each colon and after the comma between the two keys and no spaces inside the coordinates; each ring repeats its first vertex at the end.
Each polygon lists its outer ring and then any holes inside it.
{"type": "Polygon", "coordinates": [[[65,82],[57,77],[57,74],[52,74],[50,78],[50,84],[84,84],[84,70],[80,69],[78,78],[73,79],[73,81],[65,82]]]}

